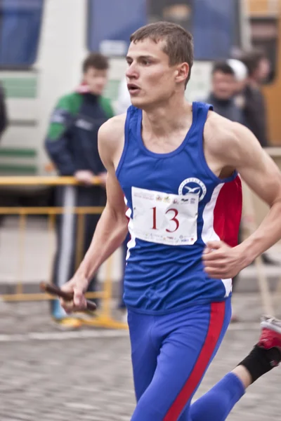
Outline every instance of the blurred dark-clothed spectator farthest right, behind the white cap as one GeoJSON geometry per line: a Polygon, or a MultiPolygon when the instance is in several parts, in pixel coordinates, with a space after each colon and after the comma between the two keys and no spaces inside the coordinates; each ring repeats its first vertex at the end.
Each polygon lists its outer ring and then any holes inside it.
{"type": "Polygon", "coordinates": [[[261,83],[268,79],[270,63],[261,51],[252,51],[242,58],[248,69],[247,86],[244,89],[244,119],[246,126],[254,133],[262,147],[268,147],[266,102],[261,92],[261,83]]]}

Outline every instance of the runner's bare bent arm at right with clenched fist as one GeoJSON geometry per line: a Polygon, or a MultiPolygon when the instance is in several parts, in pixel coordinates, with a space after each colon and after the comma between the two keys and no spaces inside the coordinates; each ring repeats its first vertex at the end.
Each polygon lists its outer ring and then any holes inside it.
{"type": "Polygon", "coordinates": [[[230,121],[223,125],[227,129],[222,132],[224,138],[218,136],[218,144],[214,146],[218,159],[225,167],[236,168],[242,180],[270,206],[254,234],[237,247],[208,244],[203,256],[206,272],[226,279],[235,276],[281,239],[281,173],[251,131],[230,121]]]}

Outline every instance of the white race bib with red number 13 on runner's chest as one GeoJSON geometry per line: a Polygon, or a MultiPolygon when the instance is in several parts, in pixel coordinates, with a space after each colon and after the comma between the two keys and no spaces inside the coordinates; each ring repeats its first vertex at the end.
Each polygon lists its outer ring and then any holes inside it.
{"type": "Polygon", "coordinates": [[[199,195],[166,194],[132,187],[133,232],[137,239],[169,246],[197,241],[199,195]]]}

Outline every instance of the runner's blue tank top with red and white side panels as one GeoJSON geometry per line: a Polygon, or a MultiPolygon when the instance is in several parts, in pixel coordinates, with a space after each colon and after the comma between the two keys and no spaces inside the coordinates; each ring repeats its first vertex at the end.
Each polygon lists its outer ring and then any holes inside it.
{"type": "Polygon", "coordinates": [[[202,264],[207,241],[237,244],[242,210],[240,177],[221,180],[204,158],[203,131],[211,105],[192,104],[192,125],[173,152],[150,152],[142,140],[142,111],[129,107],[117,179],[128,206],[124,302],[148,314],[221,302],[231,279],[211,279],[202,264]]]}

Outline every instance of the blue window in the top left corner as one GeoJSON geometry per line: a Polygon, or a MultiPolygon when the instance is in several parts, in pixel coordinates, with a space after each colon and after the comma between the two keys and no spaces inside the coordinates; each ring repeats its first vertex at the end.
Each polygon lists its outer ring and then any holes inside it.
{"type": "Polygon", "coordinates": [[[30,67],[37,58],[44,0],[0,0],[0,67],[30,67]]]}

